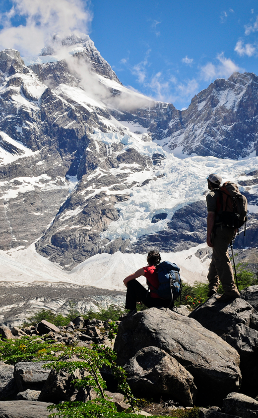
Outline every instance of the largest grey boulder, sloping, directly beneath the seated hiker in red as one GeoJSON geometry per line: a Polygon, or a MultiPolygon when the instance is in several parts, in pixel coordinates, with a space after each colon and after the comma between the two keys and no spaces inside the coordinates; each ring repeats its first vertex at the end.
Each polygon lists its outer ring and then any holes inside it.
{"type": "Polygon", "coordinates": [[[199,401],[216,405],[231,388],[239,390],[239,354],[193,318],[151,308],[119,324],[114,350],[120,365],[149,346],[161,348],[194,376],[199,401]]]}

